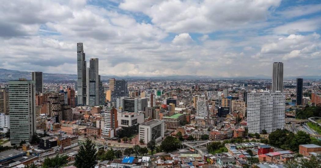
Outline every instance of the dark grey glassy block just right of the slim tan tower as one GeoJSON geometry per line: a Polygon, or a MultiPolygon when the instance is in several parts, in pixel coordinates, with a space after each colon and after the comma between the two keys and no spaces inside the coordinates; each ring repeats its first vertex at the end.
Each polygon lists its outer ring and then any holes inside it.
{"type": "Polygon", "coordinates": [[[115,82],[114,91],[111,93],[112,102],[116,102],[117,98],[128,96],[127,81],[123,79],[117,79],[117,80],[114,80],[114,82],[115,82]]]}

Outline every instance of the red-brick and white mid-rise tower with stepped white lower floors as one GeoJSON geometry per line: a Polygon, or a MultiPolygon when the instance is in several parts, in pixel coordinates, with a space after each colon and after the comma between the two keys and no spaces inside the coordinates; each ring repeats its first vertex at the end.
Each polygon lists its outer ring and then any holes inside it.
{"type": "Polygon", "coordinates": [[[101,131],[101,136],[105,139],[113,138],[116,135],[118,127],[117,109],[104,109],[104,128],[101,131]]]}

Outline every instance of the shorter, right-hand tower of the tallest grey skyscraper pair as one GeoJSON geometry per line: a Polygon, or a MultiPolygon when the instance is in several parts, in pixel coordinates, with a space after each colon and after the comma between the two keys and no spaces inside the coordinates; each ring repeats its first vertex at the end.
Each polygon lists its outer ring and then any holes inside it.
{"type": "Polygon", "coordinates": [[[89,60],[87,76],[87,105],[99,105],[99,75],[98,75],[98,58],[89,60]]]}

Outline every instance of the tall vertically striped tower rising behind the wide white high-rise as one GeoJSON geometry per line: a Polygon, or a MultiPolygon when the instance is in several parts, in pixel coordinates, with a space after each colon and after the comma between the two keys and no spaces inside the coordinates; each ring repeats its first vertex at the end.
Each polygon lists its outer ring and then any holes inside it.
{"type": "Polygon", "coordinates": [[[283,92],[283,63],[273,63],[273,74],[272,74],[272,92],[275,91],[283,92]]]}

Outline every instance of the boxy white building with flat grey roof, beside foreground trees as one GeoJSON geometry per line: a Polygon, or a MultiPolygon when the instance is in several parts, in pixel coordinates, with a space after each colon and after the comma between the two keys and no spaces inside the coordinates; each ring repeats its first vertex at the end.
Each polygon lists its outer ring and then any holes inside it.
{"type": "Polygon", "coordinates": [[[158,142],[164,138],[166,124],[162,120],[151,120],[139,125],[139,139],[144,143],[151,140],[158,142]]]}

